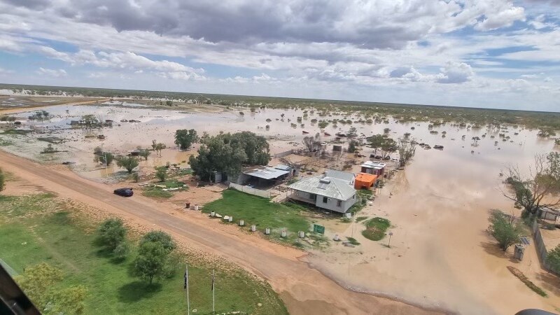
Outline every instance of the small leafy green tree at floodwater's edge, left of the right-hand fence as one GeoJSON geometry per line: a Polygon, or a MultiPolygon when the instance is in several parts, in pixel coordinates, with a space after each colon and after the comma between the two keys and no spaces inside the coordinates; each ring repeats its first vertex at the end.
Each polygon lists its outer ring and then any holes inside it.
{"type": "Polygon", "coordinates": [[[509,216],[500,210],[494,209],[490,212],[488,221],[490,222],[488,231],[496,238],[503,251],[507,251],[507,248],[519,241],[522,227],[514,220],[513,216],[509,216]]]}

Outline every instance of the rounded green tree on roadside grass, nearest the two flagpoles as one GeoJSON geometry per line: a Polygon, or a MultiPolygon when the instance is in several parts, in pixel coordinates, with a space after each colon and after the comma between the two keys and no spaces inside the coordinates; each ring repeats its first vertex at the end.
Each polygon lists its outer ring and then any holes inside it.
{"type": "Polygon", "coordinates": [[[140,245],[138,256],[134,260],[133,273],[141,279],[153,283],[164,275],[165,260],[169,253],[161,243],[148,241],[140,245]]]}

